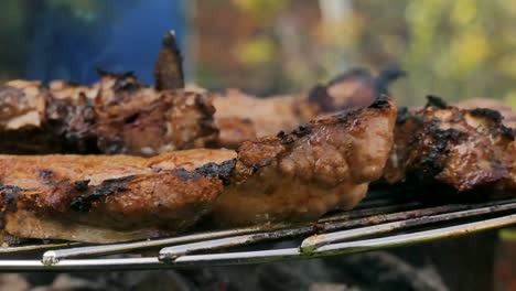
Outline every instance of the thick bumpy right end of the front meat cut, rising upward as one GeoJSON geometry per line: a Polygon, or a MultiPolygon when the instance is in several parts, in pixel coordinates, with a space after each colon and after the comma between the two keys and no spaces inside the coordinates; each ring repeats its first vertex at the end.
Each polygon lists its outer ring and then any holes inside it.
{"type": "Polygon", "coordinates": [[[395,119],[396,106],[380,98],[290,134],[244,142],[214,219],[219,225],[307,220],[353,208],[383,173],[395,119]]]}

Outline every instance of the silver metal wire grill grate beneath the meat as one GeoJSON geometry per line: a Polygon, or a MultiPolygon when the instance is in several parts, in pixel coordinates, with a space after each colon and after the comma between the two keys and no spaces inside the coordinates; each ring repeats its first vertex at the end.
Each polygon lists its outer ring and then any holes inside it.
{"type": "Polygon", "coordinates": [[[372,190],[355,209],[303,225],[258,225],[110,245],[0,248],[1,271],[166,269],[260,263],[378,250],[516,224],[516,198],[439,203],[372,190]],[[276,241],[283,241],[278,248],[276,241]],[[15,258],[15,259],[13,259],[15,258]],[[23,259],[20,259],[23,258],[23,259]]]}

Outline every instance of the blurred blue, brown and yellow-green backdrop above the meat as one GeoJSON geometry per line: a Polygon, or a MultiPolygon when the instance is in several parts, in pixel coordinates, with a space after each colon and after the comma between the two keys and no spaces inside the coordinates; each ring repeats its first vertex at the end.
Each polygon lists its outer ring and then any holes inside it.
{"type": "Polygon", "coordinates": [[[152,82],[174,29],[187,80],[257,95],[305,90],[356,66],[398,65],[404,105],[434,94],[516,105],[516,2],[482,0],[3,0],[0,79],[152,82]]]}

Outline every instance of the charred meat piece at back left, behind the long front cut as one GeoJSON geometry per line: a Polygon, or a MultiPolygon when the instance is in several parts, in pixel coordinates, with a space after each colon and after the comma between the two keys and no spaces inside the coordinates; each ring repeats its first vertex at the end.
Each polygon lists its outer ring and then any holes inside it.
{"type": "Polygon", "coordinates": [[[152,155],[213,143],[206,94],[155,90],[132,74],[103,73],[94,86],[10,82],[0,87],[3,153],[152,155]]]}

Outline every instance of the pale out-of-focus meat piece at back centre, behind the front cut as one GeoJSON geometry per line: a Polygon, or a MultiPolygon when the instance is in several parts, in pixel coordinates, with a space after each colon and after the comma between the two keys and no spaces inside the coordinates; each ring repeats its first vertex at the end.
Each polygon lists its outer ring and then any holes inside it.
{"type": "Polygon", "coordinates": [[[367,106],[387,93],[389,83],[404,75],[405,72],[395,68],[385,69],[377,77],[366,69],[351,69],[327,85],[318,85],[309,94],[268,98],[227,90],[225,96],[214,99],[215,120],[221,130],[219,146],[235,148],[254,137],[293,129],[316,116],[367,106]]]}

